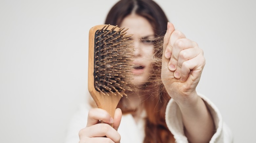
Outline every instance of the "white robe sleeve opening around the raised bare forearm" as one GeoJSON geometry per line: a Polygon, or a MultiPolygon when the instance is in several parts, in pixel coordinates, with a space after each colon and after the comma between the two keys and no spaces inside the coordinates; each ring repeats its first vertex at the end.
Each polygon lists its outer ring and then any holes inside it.
{"type": "MultiPolygon", "coordinates": [[[[232,143],[233,137],[232,133],[223,122],[222,116],[217,109],[217,107],[205,96],[198,94],[204,101],[205,105],[208,107],[214,124],[215,124],[215,134],[212,136],[210,143],[232,143]]],[[[167,127],[174,135],[177,143],[188,143],[187,137],[183,132],[183,124],[181,121],[181,111],[177,103],[171,99],[166,107],[165,120],[167,127]]]]}

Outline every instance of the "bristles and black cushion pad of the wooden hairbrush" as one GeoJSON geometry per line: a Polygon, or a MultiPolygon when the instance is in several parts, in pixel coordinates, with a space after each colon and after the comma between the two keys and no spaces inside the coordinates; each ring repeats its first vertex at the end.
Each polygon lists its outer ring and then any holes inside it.
{"type": "Polygon", "coordinates": [[[127,96],[124,91],[131,91],[133,69],[133,46],[125,35],[125,28],[109,25],[97,30],[94,39],[94,87],[104,95],[127,96]]]}

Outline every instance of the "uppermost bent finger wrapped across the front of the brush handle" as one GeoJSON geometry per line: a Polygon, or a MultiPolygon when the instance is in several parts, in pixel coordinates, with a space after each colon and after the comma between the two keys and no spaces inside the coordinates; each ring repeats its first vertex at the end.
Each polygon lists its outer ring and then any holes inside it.
{"type": "Polygon", "coordinates": [[[89,110],[86,127],[97,124],[99,120],[108,124],[114,122],[114,119],[109,115],[106,110],[100,108],[93,108],[89,110]]]}

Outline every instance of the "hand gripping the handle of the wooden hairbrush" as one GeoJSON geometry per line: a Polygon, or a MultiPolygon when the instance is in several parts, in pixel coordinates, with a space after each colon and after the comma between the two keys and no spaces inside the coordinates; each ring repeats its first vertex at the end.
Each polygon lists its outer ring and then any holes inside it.
{"type": "Polygon", "coordinates": [[[122,111],[119,108],[115,111],[114,119],[106,110],[91,109],[88,113],[86,127],[79,131],[79,143],[119,143],[121,136],[117,133],[117,129],[121,117],[122,111]],[[99,120],[105,123],[99,123],[99,120]],[[113,123],[113,128],[109,125],[111,123],[113,123]]]}

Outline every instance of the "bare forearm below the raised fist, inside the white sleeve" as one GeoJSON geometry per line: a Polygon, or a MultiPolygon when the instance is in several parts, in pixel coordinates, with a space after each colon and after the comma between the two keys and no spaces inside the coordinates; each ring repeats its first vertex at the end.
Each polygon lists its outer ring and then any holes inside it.
{"type": "Polygon", "coordinates": [[[203,100],[195,97],[194,103],[178,104],[184,133],[191,143],[209,142],[215,133],[213,119],[203,100]]]}

